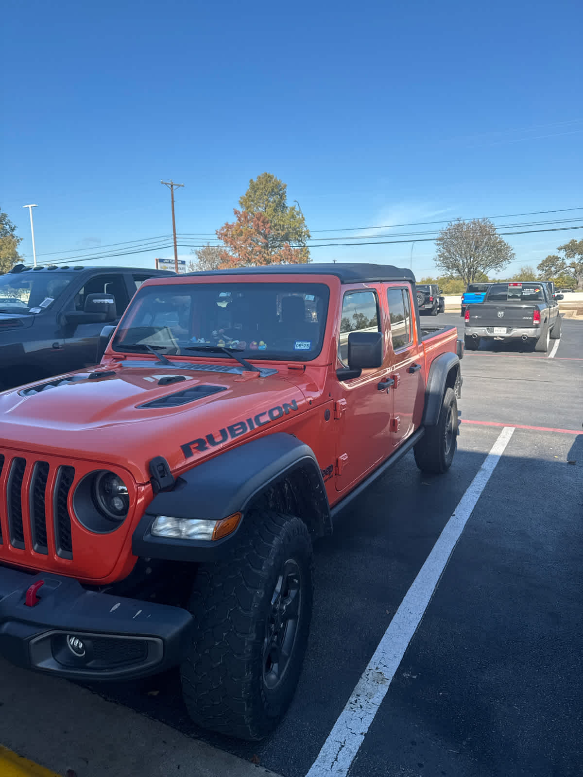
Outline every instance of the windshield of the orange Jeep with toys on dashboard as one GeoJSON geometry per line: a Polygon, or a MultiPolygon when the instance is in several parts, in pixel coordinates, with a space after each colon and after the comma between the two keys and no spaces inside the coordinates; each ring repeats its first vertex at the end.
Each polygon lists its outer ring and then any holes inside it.
{"type": "Polygon", "coordinates": [[[142,287],[112,347],[148,352],[150,346],[166,355],[201,358],[204,350],[189,349],[214,346],[239,349],[246,358],[310,361],[322,349],[328,298],[323,284],[142,287]]]}

